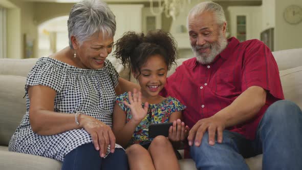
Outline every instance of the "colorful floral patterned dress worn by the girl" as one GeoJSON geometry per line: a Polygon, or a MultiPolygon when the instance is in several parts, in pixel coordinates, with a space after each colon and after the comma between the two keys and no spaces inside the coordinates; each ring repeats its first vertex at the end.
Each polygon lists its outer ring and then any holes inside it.
{"type": "MultiPolygon", "coordinates": [[[[116,102],[122,108],[125,114],[127,114],[126,122],[130,121],[132,114],[130,108],[124,105],[123,101],[129,102],[128,93],[121,94],[116,98],[116,102]]],[[[144,103],[142,103],[143,107],[144,103]]],[[[134,134],[128,145],[131,144],[143,144],[152,141],[152,138],[148,136],[148,129],[150,124],[166,123],[169,122],[170,114],[184,110],[186,107],[178,99],[173,97],[167,97],[158,104],[149,104],[148,113],[146,117],[136,127],[134,134]]]]}

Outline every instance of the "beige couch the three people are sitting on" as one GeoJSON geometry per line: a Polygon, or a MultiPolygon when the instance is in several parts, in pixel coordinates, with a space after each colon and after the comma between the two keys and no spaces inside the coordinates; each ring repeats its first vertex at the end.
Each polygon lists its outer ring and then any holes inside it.
{"type": "MultiPolygon", "coordinates": [[[[302,49],[273,52],[278,63],[285,98],[302,108],[302,49]]],[[[109,58],[121,77],[135,81],[130,71],[114,58],[109,58]]],[[[0,59],[0,169],[60,169],[59,161],[20,153],[8,152],[11,135],[25,114],[23,98],[26,76],[37,59],[0,59]]],[[[178,59],[181,65],[185,59],[178,59]]],[[[174,72],[171,68],[169,75],[174,72]]],[[[246,159],[250,169],[261,169],[262,155],[246,159]]],[[[196,169],[191,159],[180,160],[181,169],[196,169]]]]}

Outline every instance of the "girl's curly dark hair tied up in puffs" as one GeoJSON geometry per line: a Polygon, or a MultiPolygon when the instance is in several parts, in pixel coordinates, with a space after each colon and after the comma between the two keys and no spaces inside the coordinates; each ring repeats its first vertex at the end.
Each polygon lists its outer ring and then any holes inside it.
{"type": "Polygon", "coordinates": [[[124,67],[130,66],[134,72],[140,73],[140,68],[153,55],[162,56],[168,70],[172,64],[176,64],[177,44],[170,33],[162,30],[149,31],[147,35],[126,32],[114,46],[113,55],[121,59],[124,67]]]}

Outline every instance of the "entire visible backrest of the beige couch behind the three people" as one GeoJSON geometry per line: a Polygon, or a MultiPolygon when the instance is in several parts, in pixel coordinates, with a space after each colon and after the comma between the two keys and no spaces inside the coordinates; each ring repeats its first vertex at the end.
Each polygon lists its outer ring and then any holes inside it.
{"type": "MultiPolygon", "coordinates": [[[[277,61],[285,98],[294,101],[302,108],[302,49],[273,52],[277,61]]],[[[113,57],[109,58],[121,77],[136,82],[130,69],[124,68],[113,57]]],[[[177,60],[177,66],[188,58],[177,60]]],[[[25,81],[37,58],[0,59],[0,145],[8,145],[11,135],[16,130],[26,112],[25,81]]],[[[168,75],[177,66],[172,66],[168,75]]]]}

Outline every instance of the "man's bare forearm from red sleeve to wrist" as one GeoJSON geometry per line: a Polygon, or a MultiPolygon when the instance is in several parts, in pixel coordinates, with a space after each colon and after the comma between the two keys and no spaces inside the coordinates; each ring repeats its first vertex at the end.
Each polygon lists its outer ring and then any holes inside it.
{"type": "Polygon", "coordinates": [[[264,106],[265,101],[266,91],[261,87],[252,86],[213,117],[225,120],[228,128],[253,118],[264,106]]]}

